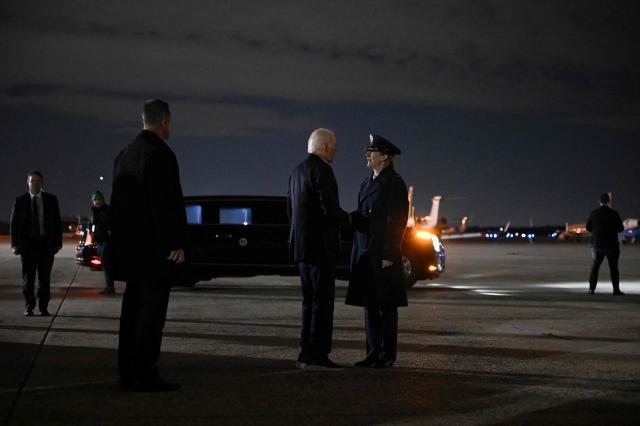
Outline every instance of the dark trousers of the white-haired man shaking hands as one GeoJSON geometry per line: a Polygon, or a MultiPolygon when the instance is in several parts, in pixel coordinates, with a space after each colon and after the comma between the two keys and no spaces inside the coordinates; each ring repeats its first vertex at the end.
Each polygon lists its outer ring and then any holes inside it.
{"type": "Polygon", "coordinates": [[[331,352],[336,268],[330,262],[298,266],[302,284],[302,355],[307,361],[324,359],[331,352]]]}

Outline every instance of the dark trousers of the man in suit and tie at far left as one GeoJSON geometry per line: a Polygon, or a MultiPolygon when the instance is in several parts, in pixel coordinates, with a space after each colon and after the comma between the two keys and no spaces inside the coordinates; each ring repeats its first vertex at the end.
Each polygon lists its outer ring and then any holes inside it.
{"type": "Polygon", "coordinates": [[[31,237],[30,244],[20,253],[22,260],[22,294],[25,306],[34,309],[36,306],[35,281],[38,274],[38,307],[46,311],[51,299],[51,269],[53,268],[53,251],[47,244],[47,237],[31,237]]]}

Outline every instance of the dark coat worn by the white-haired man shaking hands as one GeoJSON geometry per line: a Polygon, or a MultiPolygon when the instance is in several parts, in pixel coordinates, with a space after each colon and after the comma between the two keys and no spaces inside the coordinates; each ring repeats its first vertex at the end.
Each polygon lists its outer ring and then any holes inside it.
{"type": "Polygon", "coordinates": [[[335,263],[340,252],[340,225],[349,215],[339,205],[338,184],[331,166],[309,154],[289,178],[287,212],[289,254],[294,262],[335,263]]]}

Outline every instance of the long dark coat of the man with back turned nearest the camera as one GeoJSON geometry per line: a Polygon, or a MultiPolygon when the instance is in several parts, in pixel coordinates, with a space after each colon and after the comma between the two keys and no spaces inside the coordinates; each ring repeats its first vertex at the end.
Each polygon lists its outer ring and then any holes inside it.
{"type": "Polygon", "coordinates": [[[175,284],[180,266],[166,260],[185,248],[186,213],[176,156],[143,130],[116,157],[111,191],[115,279],[175,284]]]}

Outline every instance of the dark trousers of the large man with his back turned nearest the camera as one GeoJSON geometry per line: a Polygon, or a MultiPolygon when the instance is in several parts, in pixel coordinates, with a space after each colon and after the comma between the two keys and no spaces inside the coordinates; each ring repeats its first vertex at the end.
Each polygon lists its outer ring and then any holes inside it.
{"type": "Polygon", "coordinates": [[[127,283],[122,297],[118,366],[120,381],[153,383],[158,379],[162,343],[171,287],[152,283],[127,283]]]}

